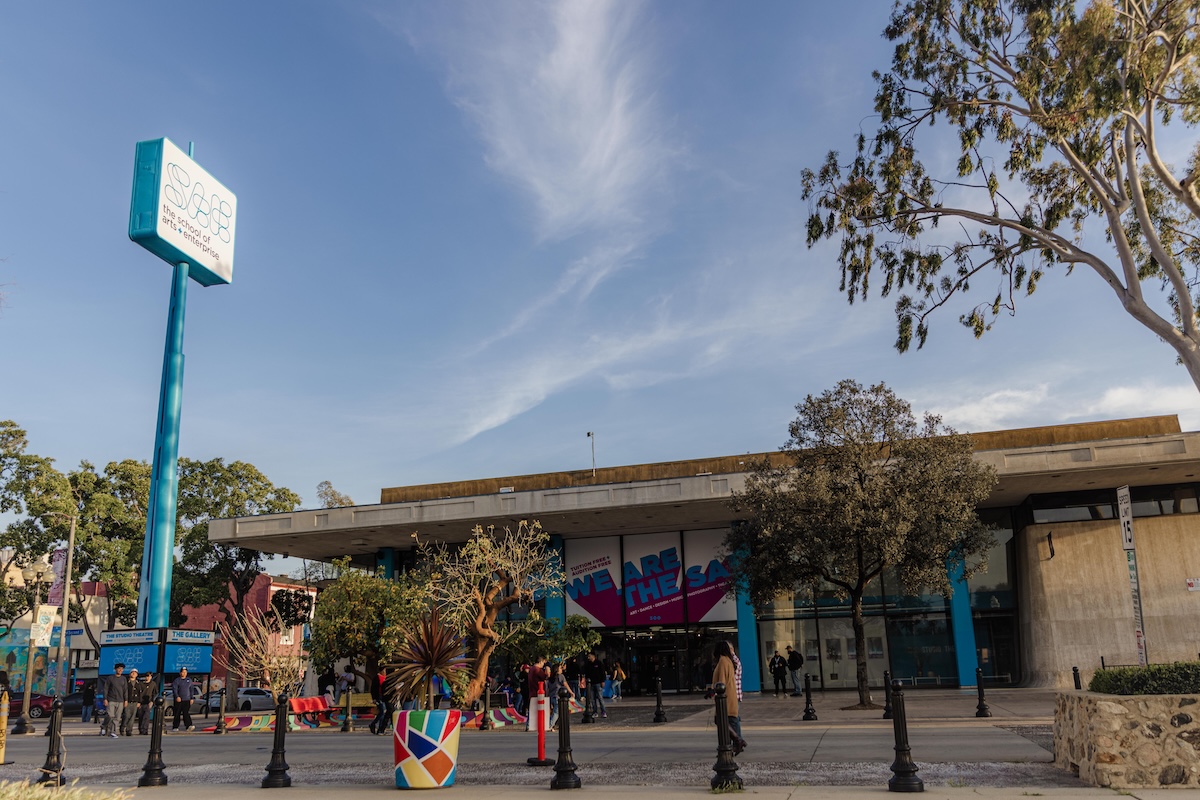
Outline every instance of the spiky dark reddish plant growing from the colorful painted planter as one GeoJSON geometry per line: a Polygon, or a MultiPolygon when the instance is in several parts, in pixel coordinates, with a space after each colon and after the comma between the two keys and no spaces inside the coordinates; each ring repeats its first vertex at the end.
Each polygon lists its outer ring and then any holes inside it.
{"type": "Polygon", "coordinates": [[[388,682],[395,700],[424,692],[427,709],[433,708],[433,679],[457,687],[467,678],[467,648],[454,630],[442,622],[434,607],[407,627],[396,661],[388,664],[388,682]]]}

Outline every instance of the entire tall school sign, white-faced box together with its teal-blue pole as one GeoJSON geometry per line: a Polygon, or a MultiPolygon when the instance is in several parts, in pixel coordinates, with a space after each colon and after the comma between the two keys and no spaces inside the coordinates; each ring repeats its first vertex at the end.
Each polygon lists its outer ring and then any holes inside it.
{"type": "Polygon", "coordinates": [[[170,610],[187,281],[205,287],[233,282],[238,198],[192,161],[192,154],[191,145],[185,155],[170,139],[154,139],[138,143],[133,162],[130,239],[175,269],[150,470],[139,628],[167,627],[170,610]]]}

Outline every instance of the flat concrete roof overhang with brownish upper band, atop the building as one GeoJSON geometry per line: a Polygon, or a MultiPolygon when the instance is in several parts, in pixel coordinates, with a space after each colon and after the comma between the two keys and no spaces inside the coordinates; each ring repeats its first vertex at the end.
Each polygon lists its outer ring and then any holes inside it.
{"type": "MultiPolygon", "coordinates": [[[[1180,432],[1174,416],[973,435],[977,457],[1000,476],[985,507],[1049,492],[1196,482],[1200,475],[1200,433],[1180,432]]],[[[380,505],[215,519],[209,541],[373,564],[377,551],[407,549],[416,534],[464,541],[476,524],[515,527],[521,519],[538,519],[564,539],[724,528],[736,518],[731,494],[763,457],[778,453],[608,468],[595,476],[586,470],[400,487],[384,489],[380,505]]]]}

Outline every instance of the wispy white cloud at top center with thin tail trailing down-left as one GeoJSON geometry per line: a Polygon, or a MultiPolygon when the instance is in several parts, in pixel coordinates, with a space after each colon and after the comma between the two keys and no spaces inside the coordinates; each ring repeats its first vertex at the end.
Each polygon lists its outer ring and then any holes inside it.
{"type": "Polygon", "coordinates": [[[450,24],[406,31],[434,52],[485,163],[528,201],[536,242],[565,243],[559,277],[467,355],[586,301],[666,228],[680,148],[656,100],[643,11],[610,0],[472,4],[446,11],[458,14],[450,24]]]}

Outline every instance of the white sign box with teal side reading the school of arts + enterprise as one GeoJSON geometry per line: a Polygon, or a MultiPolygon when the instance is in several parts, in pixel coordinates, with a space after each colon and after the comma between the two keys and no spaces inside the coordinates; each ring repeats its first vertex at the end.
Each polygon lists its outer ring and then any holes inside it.
{"type": "Polygon", "coordinates": [[[238,198],[170,139],[139,142],[130,239],[203,285],[233,282],[238,198]]]}

